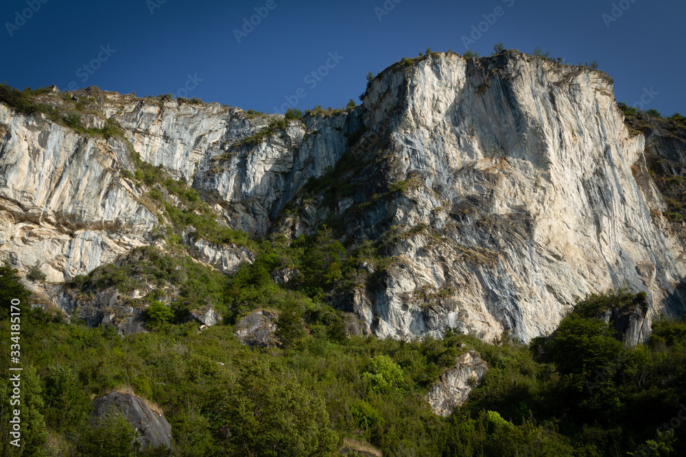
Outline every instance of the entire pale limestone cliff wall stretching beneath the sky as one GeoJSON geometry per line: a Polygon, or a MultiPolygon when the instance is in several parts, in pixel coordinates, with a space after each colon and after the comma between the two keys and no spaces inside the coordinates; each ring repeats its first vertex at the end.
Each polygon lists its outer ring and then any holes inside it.
{"type": "MultiPolygon", "coordinates": [[[[227,227],[294,238],[333,218],[351,243],[383,243],[389,266],[361,267],[375,282],[330,299],[379,337],[458,328],[530,341],[578,299],[625,285],[646,292],[648,320],[684,311],[686,236],[665,225],[646,136],[628,132],[601,71],[518,51],[430,53],[377,75],[362,106],[278,129],[281,116],[217,103],[79,97],[100,110],[88,125],[109,119],[126,140],[0,103],[0,256],[22,271],[38,264],[49,281],[150,244],[166,223],[125,173],[130,143],[227,227]],[[344,189],[298,192],[336,165],[344,189]],[[286,203],[296,212],[282,214],[286,203]]],[[[660,129],[647,135],[650,154],[686,157],[660,129]]],[[[184,243],[226,273],[254,258],[192,232],[184,243]]]]}

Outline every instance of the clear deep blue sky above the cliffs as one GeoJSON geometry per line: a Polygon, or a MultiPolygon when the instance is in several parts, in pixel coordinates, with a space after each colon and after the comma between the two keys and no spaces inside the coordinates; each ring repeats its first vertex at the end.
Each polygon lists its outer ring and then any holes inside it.
{"type": "Polygon", "coordinates": [[[617,100],[686,114],[685,18],[686,3],[647,0],[3,0],[0,81],[172,93],[264,112],[287,99],[338,108],[358,100],[368,71],[427,47],[464,53],[467,37],[482,55],[503,42],[570,63],[598,60],[617,100]]]}

